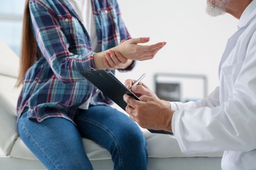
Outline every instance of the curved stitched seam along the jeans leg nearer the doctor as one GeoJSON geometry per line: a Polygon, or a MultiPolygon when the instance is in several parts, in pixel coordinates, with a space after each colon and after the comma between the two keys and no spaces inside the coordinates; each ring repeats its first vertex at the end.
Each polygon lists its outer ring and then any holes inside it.
{"type": "Polygon", "coordinates": [[[117,137],[110,131],[110,129],[108,129],[106,126],[102,126],[102,124],[99,124],[98,122],[95,122],[93,120],[87,120],[87,119],[83,119],[83,118],[77,118],[76,120],[81,120],[83,122],[88,122],[91,124],[94,124],[97,127],[100,127],[101,129],[103,129],[104,131],[106,131],[106,133],[108,133],[110,135],[110,137],[112,137],[112,139],[114,139],[116,146],[117,146],[117,152],[119,155],[119,164],[120,164],[120,168],[123,168],[123,158],[121,156],[121,147],[120,144],[117,140],[117,137]]]}

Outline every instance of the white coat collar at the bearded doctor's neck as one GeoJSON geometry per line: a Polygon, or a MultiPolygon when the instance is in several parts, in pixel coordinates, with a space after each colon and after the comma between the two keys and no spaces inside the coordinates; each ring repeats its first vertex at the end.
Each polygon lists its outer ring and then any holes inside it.
{"type": "Polygon", "coordinates": [[[238,29],[244,27],[248,22],[256,15],[256,1],[251,1],[251,3],[246,7],[240,20],[238,22],[238,29]]]}

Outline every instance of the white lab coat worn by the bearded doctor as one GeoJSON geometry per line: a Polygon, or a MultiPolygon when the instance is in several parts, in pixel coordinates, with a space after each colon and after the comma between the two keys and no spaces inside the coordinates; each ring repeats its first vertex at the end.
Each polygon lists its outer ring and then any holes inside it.
{"type": "Polygon", "coordinates": [[[256,1],[228,39],[219,79],[207,98],[171,103],[173,133],[182,152],[224,150],[224,170],[256,169],[256,1]]]}

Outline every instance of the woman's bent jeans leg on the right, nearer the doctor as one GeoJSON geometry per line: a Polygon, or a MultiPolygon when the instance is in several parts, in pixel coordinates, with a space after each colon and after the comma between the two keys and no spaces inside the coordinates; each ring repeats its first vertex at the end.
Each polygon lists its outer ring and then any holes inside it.
{"type": "Polygon", "coordinates": [[[115,166],[119,166],[115,169],[146,167],[146,140],[139,126],[127,115],[98,105],[79,110],[74,121],[82,137],[95,141],[112,154],[115,166]]]}

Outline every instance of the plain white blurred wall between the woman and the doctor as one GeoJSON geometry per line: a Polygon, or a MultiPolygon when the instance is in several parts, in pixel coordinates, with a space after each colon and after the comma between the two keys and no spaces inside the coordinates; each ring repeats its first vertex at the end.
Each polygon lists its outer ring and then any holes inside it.
{"type": "MultiPolygon", "coordinates": [[[[129,0],[119,1],[123,20],[132,37],[150,37],[150,43],[166,41],[156,58],[141,61],[132,73],[119,73],[119,79],[138,78],[153,90],[156,73],[207,76],[207,93],[218,86],[219,60],[227,39],[236,31],[238,20],[224,14],[205,13],[206,0],[129,0]]],[[[188,86],[188,84],[186,84],[188,86]]],[[[202,93],[201,86],[184,90],[202,93]]]]}

